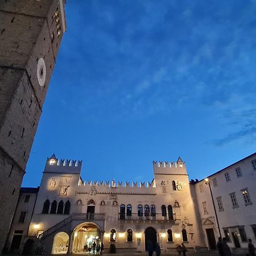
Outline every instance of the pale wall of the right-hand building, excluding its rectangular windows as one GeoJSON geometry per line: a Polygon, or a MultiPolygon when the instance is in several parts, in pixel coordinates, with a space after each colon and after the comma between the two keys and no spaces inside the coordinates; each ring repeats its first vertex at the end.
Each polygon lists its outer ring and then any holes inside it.
{"type": "MultiPolygon", "coordinates": [[[[224,237],[224,230],[227,230],[229,236],[229,246],[236,247],[232,232],[238,234],[238,241],[243,248],[247,247],[247,241],[242,241],[242,236],[238,228],[244,228],[246,237],[252,238],[255,244],[255,236],[252,227],[256,227],[256,171],[251,163],[256,159],[256,154],[250,155],[245,159],[240,160],[237,163],[232,164],[225,169],[218,171],[208,177],[210,188],[212,189],[213,201],[216,207],[218,222],[220,225],[221,236],[224,237]],[[240,168],[242,176],[238,177],[236,168],[240,168]],[[225,174],[229,173],[230,181],[226,181],[225,174]],[[214,186],[213,179],[216,179],[217,186],[214,186]],[[243,199],[242,191],[247,189],[250,195],[251,203],[246,204],[243,199]],[[233,207],[230,193],[236,194],[238,207],[233,207]],[[223,209],[219,209],[217,198],[221,197],[223,209]]],[[[205,228],[212,227],[214,229],[216,241],[220,236],[217,228],[217,221],[214,214],[214,208],[212,198],[210,196],[209,185],[205,184],[204,180],[195,184],[198,208],[200,211],[201,223],[204,229],[205,243],[208,244],[207,236],[205,234],[205,228]],[[200,186],[203,187],[203,191],[200,192],[200,186]],[[207,203],[207,213],[204,213],[203,202],[207,203]],[[211,223],[212,222],[212,223],[211,223]]]]}

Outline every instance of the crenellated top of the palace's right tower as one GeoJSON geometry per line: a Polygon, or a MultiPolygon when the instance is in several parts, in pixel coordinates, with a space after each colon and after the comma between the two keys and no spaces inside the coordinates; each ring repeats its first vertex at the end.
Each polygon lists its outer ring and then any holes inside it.
{"type": "Polygon", "coordinates": [[[185,162],[179,157],[177,162],[153,161],[154,174],[187,174],[185,162]]]}

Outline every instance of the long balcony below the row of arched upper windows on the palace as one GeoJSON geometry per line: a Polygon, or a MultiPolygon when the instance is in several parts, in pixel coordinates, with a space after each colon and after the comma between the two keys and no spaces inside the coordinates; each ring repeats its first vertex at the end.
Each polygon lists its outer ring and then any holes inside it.
{"type": "Polygon", "coordinates": [[[148,215],[148,216],[138,216],[138,213],[131,213],[130,216],[127,216],[126,214],[120,214],[118,215],[118,220],[127,222],[145,222],[145,221],[155,221],[155,222],[172,222],[174,223],[176,221],[176,215],[172,214],[171,216],[162,216],[162,213],[156,213],[154,216],[148,215]]]}

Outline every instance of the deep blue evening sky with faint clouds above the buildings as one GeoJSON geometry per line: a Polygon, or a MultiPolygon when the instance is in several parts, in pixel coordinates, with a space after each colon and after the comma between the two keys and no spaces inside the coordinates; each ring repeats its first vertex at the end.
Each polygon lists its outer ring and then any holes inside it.
{"type": "Polygon", "coordinates": [[[202,179],[255,152],[256,3],[69,0],[23,186],[47,156],[82,179],[151,181],[180,156],[202,179]]]}

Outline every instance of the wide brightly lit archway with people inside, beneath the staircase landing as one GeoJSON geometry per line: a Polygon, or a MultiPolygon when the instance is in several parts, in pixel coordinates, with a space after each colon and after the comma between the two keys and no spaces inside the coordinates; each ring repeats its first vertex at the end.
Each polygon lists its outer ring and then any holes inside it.
{"type": "Polygon", "coordinates": [[[74,253],[90,252],[93,247],[101,245],[102,231],[94,222],[84,222],[73,230],[73,238],[72,251],[74,253]]]}

